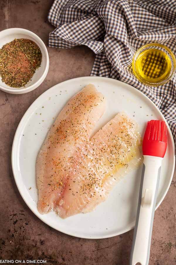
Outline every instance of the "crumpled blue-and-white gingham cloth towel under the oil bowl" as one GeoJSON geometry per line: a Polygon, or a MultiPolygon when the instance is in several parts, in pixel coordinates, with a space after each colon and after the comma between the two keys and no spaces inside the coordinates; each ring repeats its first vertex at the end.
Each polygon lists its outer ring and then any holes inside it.
{"type": "Polygon", "coordinates": [[[95,54],[92,76],[121,80],[147,95],[165,116],[176,142],[176,76],[160,87],[143,85],[131,68],[134,52],[159,42],[176,54],[175,0],[55,0],[49,46],[86,45],[95,54]]]}

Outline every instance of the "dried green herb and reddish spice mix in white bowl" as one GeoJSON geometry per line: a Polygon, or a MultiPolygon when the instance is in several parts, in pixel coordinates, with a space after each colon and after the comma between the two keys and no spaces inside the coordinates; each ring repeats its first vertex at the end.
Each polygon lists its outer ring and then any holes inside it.
{"type": "Polygon", "coordinates": [[[0,75],[10,87],[26,85],[40,66],[42,53],[30,39],[14,39],[0,49],[0,75]]]}

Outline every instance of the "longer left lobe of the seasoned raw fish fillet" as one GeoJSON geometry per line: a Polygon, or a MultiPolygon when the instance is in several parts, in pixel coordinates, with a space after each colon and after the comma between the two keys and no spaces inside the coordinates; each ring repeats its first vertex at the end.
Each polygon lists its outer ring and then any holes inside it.
{"type": "Polygon", "coordinates": [[[67,190],[70,194],[70,181],[74,181],[79,165],[82,168],[84,164],[79,151],[85,151],[85,143],[103,115],[105,104],[104,96],[89,84],[67,102],[50,128],[36,160],[41,214],[53,209],[64,218],[65,209],[61,211],[60,207],[65,205],[67,190]]]}

